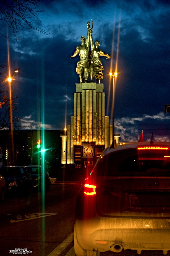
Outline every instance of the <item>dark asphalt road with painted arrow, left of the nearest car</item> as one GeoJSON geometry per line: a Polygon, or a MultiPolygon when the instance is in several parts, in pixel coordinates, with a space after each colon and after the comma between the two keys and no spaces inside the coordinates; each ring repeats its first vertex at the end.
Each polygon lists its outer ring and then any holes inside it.
{"type": "Polygon", "coordinates": [[[58,182],[44,196],[7,197],[0,205],[0,255],[27,248],[47,256],[73,231],[75,201],[81,183],[58,182]]]}

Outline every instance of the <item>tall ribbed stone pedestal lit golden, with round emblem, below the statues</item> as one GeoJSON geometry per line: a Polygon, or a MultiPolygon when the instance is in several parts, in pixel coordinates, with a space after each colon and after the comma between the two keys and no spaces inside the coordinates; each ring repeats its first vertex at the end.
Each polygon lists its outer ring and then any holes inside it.
{"type": "MultiPolygon", "coordinates": [[[[119,135],[115,135],[119,140],[119,135]]],[[[76,84],[74,116],[67,125],[67,135],[62,135],[62,164],[85,168],[96,160],[112,143],[112,125],[105,116],[103,84],[76,84]],[[66,143],[67,136],[67,143],[66,143]]]]}

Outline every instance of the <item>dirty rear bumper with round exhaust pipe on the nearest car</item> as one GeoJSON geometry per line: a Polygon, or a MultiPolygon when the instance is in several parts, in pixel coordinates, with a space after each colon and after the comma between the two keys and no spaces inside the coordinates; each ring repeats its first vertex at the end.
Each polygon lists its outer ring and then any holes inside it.
{"type": "Polygon", "coordinates": [[[170,250],[170,219],[107,218],[76,220],[78,244],[99,252],[121,249],[170,250]]]}

